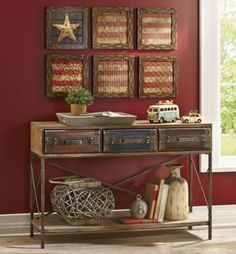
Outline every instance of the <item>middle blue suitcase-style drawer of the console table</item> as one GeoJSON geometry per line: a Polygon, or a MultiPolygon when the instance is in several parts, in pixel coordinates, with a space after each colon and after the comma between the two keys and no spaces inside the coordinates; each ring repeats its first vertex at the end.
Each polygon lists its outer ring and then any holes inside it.
{"type": "Polygon", "coordinates": [[[151,152],[157,150],[156,129],[113,129],[103,131],[103,152],[151,152]]]}

